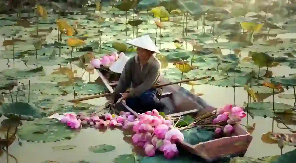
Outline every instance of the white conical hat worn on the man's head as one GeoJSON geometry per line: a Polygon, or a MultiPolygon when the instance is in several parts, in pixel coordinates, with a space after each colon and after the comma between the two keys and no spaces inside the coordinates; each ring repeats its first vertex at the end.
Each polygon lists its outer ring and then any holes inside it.
{"type": "Polygon", "coordinates": [[[133,45],[135,47],[141,47],[143,49],[147,49],[152,52],[160,54],[159,49],[155,46],[155,44],[153,43],[153,41],[151,40],[149,35],[144,35],[144,36],[138,37],[138,38],[130,40],[126,43],[133,45]]]}

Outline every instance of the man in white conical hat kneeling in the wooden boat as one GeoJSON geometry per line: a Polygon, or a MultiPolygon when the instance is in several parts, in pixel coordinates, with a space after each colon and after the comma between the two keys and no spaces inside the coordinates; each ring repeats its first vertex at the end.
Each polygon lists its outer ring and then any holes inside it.
{"type": "Polygon", "coordinates": [[[158,48],[148,35],[128,41],[127,44],[137,48],[137,55],[126,62],[109,103],[116,103],[121,94],[122,100],[126,100],[127,106],[135,111],[163,110],[166,106],[159,99],[162,89],[153,88],[155,84],[161,84],[161,63],[153,56],[154,53],[160,53],[158,48]],[[126,92],[130,86],[131,91],[126,92]]]}

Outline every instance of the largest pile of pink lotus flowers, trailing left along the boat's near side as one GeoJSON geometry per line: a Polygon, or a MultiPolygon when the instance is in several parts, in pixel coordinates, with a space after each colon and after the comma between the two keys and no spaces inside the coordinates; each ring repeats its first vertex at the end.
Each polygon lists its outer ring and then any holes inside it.
{"type": "Polygon", "coordinates": [[[65,114],[60,121],[73,129],[82,126],[94,126],[97,129],[122,126],[132,129],[135,132],[133,143],[143,147],[147,156],[154,156],[155,151],[159,150],[164,152],[166,158],[173,158],[178,155],[176,142],[184,140],[184,135],[173,127],[173,121],[163,118],[155,109],[137,118],[130,112],[121,112],[120,115],[106,113],[102,116],[65,114]]]}

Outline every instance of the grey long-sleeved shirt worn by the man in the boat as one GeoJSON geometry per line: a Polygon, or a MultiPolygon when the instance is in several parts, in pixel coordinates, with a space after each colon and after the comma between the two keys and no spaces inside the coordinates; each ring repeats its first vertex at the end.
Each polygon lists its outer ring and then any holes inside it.
{"type": "Polygon", "coordinates": [[[161,84],[160,61],[152,56],[145,65],[138,62],[138,56],[131,57],[120,75],[119,82],[114,90],[114,97],[118,97],[119,93],[125,92],[129,87],[129,97],[141,95],[143,92],[151,89],[154,84],[161,84]]]}

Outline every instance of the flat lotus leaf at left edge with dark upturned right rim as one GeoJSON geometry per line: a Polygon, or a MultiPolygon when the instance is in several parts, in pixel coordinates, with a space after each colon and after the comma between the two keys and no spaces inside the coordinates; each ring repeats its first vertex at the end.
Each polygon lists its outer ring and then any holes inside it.
{"type": "Polygon", "coordinates": [[[10,77],[12,79],[27,79],[31,76],[43,76],[43,67],[34,68],[31,70],[18,70],[14,68],[9,68],[1,72],[3,76],[10,77]]]}

